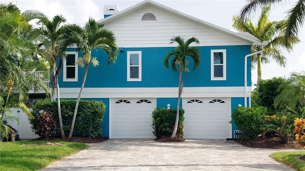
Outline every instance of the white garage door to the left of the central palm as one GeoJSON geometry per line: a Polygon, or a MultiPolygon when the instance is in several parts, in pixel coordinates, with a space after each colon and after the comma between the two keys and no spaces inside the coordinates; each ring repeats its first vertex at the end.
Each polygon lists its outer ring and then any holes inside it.
{"type": "Polygon", "coordinates": [[[152,111],[156,98],[111,99],[110,138],[155,138],[152,111]]]}

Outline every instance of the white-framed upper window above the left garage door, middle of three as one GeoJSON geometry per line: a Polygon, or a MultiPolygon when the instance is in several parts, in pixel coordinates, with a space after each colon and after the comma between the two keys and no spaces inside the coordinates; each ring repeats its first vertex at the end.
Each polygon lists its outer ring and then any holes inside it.
{"type": "Polygon", "coordinates": [[[127,51],[127,81],[142,81],[142,51],[127,51]]]}

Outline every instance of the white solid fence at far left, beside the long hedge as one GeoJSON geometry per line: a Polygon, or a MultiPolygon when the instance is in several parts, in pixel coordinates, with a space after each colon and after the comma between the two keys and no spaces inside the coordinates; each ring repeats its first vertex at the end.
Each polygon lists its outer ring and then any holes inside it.
{"type": "Polygon", "coordinates": [[[28,117],[22,110],[17,108],[11,108],[12,114],[15,117],[18,117],[20,120],[20,125],[18,126],[16,121],[9,121],[7,124],[11,125],[19,132],[20,139],[34,139],[39,138],[38,135],[35,135],[31,129],[31,124],[28,120],[28,117]]]}

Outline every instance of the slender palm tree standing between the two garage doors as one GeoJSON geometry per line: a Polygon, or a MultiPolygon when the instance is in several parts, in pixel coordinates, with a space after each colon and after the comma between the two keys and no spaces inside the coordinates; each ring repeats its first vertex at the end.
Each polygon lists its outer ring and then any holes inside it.
{"type": "Polygon", "coordinates": [[[191,57],[194,61],[193,70],[196,70],[200,63],[201,63],[201,56],[198,47],[190,46],[191,43],[199,44],[199,40],[195,37],[191,37],[188,40],[184,40],[184,38],[180,36],[174,36],[170,39],[170,44],[178,43],[178,46],[168,52],[165,57],[163,58],[163,65],[165,68],[169,69],[169,60],[173,57],[170,61],[171,68],[174,72],[177,72],[177,65],[180,66],[179,68],[179,88],[178,88],[178,104],[177,104],[177,114],[176,114],[176,122],[174,131],[172,134],[172,138],[176,136],[177,128],[178,128],[178,119],[179,119],[179,108],[180,108],[180,97],[183,91],[183,81],[182,81],[182,72],[189,72],[187,65],[189,63],[187,57],[191,57]]]}

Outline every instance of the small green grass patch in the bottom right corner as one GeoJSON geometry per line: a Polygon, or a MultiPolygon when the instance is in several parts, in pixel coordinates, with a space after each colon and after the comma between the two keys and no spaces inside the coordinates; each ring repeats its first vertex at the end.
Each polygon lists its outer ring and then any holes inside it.
{"type": "Polygon", "coordinates": [[[305,155],[305,151],[275,152],[270,155],[273,159],[291,166],[299,171],[305,171],[305,161],[296,159],[297,156],[305,155]]]}

